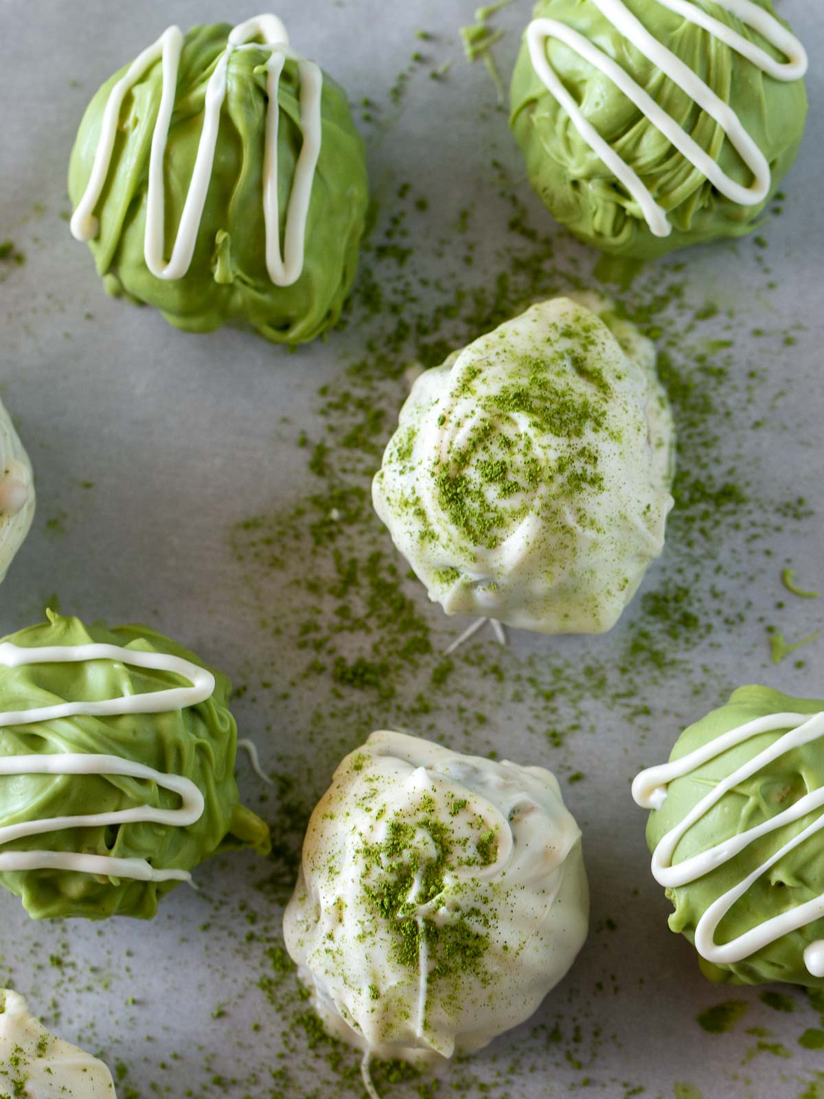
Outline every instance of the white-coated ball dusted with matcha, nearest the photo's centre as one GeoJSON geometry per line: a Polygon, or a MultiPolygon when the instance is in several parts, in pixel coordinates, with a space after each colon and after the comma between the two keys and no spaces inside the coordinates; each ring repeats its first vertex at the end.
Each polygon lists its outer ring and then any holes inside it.
{"type": "Polygon", "coordinates": [[[664,547],[672,444],[652,343],[555,298],[420,375],[375,510],[447,614],[601,633],[664,547]]]}

